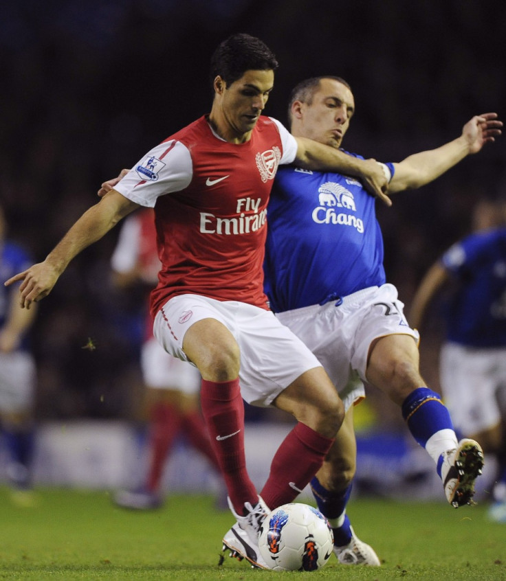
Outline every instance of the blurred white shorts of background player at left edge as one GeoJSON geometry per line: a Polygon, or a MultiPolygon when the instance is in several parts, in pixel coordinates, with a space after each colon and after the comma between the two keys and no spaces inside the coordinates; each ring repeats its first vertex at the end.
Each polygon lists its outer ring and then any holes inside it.
{"type": "Polygon", "coordinates": [[[17,413],[32,408],[35,362],[30,353],[0,353],[0,411],[17,413]]]}

